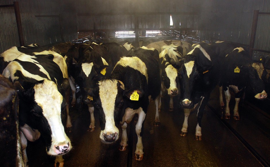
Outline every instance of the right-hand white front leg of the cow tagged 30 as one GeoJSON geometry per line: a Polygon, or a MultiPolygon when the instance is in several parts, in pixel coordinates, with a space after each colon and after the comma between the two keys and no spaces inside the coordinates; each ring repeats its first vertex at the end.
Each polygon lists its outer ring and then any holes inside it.
{"type": "Polygon", "coordinates": [[[142,146],[142,136],[141,136],[141,132],[142,132],[142,125],[144,123],[144,119],[145,119],[145,116],[146,116],[146,113],[141,109],[139,112],[138,112],[138,122],[136,124],[136,128],[135,128],[135,131],[136,131],[136,134],[138,136],[138,142],[136,144],[136,151],[135,151],[135,160],[142,160],[143,159],[143,146],[142,146]]]}

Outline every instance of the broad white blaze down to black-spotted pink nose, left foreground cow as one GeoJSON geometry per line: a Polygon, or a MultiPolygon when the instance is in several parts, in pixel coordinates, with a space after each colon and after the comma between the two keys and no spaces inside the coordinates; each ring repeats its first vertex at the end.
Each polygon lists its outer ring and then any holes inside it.
{"type": "Polygon", "coordinates": [[[57,90],[57,85],[53,81],[45,79],[42,84],[35,85],[34,90],[35,101],[41,107],[42,113],[47,119],[52,132],[52,145],[47,150],[47,154],[58,155],[68,152],[72,146],[70,139],[65,134],[61,121],[63,96],[57,90]],[[66,150],[64,152],[61,153],[61,150],[55,150],[55,148],[61,146],[65,146],[66,150]]]}

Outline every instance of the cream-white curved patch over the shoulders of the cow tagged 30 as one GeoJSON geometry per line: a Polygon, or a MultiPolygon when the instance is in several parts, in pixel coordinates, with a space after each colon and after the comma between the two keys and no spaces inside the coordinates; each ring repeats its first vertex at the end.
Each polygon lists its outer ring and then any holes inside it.
{"type": "MultiPolygon", "coordinates": [[[[146,77],[146,81],[148,82],[148,74],[147,74],[147,68],[145,63],[139,59],[138,57],[122,57],[114,66],[114,68],[117,65],[121,65],[123,67],[131,67],[135,70],[138,70],[140,73],[142,73],[146,77]]],[[[113,70],[114,70],[113,68],[113,70]]]]}

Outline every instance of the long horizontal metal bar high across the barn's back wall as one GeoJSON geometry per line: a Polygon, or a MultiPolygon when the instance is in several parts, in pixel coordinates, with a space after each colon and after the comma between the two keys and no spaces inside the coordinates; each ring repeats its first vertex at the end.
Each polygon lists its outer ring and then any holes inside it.
{"type": "Polygon", "coordinates": [[[127,13],[78,13],[77,16],[96,16],[96,15],[197,15],[197,12],[127,12],[127,13]]]}

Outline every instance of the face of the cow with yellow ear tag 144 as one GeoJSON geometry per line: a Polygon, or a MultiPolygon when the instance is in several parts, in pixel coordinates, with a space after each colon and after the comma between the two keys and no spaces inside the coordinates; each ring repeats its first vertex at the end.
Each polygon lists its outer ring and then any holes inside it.
{"type": "Polygon", "coordinates": [[[265,78],[266,71],[262,63],[254,62],[251,66],[246,67],[246,83],[248,87],[254,92],[254,97],[256,99],[265,99],[267,93],[265,92],[265,83],[263,78],[265,78]]]}

